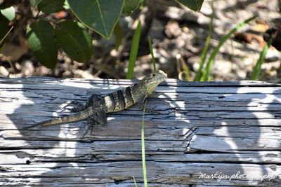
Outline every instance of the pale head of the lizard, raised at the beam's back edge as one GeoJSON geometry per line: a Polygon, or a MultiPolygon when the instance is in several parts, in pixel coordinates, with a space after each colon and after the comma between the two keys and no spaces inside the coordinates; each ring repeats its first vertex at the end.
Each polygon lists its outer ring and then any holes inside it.
{"type": "Polygon", "coordinates": [[[155,71],[148,76],[145,76],[142,81],[145,84],[145,88],[148,90],[148,95],[152,94],[157,85],[165,81],[166,78],[167,75],[161,70],[155,71]]]}

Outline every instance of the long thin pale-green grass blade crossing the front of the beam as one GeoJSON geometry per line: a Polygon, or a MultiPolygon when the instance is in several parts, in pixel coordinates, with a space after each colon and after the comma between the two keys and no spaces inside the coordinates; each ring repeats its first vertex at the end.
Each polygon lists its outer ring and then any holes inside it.
{"type": "MultiPolygon", "coordinates": [[[[145,101],[146,106],[146,101],[145,101]]],[[[143,183],[144,186],[148,186],[148,178],[146,175],[146,164],[145,164],[145,107],[143,109],[143,119],[141,122],[141,160],[143,162],[143,183]]]]}

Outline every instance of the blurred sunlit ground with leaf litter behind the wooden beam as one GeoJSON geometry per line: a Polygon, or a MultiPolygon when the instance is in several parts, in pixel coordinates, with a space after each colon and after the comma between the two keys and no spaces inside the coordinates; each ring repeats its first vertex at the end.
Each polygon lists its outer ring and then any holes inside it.
{"type": "MultiPolygon", "coordinates": [[[[115,49],[115,37],[110,40],[93,36],[93,55],[86,63],[79,63],[61,52],[55,69],[41,66],[27,46],[26,36],[19,25],[25,19],[19,15],[14,24],[18,31],[11,33],[3,53],[0,55],[0,76],[11,78],[22,76],[53,76],[57,78],[124,78],[129,62],[129,51],[133,29],[137,20],[142,20],[141,44],[136,62],[136,78],[141,78],[152,69],[148,36],[152,38],[157,67],[166,71],[169,78],[192,81],[199,67],[200,57],[207,38],[211,2],[204,1],[200,12],[193,12],[174,1],[148,1],[141,11],[131,17],[122,17],[120,25],[124,32],[122,47],[115,49]],[[187,74],[183,73],[188,69],[187,74]]],[[[20,8],[19,8],[20,9],[20,8]]],[[[20,11],[20,10],[18,10],[20,11]]],[[[281,22],[281,1],[237,0],[214,1],[214,33],[211,49],[237,23],[258,15],[226,41],[216,56],[211,76],[214,81],[248,80],[266,41],[263,34],[270,27],[279,27],[281,22]]],[[[48,15],[55,22],[67,18],[67,12],[48,15]],[[63,15],[62,15],[63,14],[63,15]]],[[[262,64],[262,81],[281,83],[281,52],[270,47],[266,61],[262,64]]]]}

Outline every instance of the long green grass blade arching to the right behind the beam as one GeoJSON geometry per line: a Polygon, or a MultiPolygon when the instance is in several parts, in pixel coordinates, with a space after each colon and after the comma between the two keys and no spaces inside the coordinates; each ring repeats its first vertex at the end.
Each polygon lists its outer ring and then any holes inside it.
{"type": "Polygon", "coordinates": [[[209,60],[207,62],[207,67],[204,69],[202,77],[200,78],[200,81],[208,80],[209,71],[211,71],[211,68],[213,67],[213,64],[214,64],[214,59],[216,57],[216,54],[218,53],[218,50],[221,48],[221,46],[223,46],[223,43],[225,43],[228,39],[230,39],[230,36],[232,34],[234,34],[235,32],[237,32],[238,29],[241,29],[242,27],[247,25],[248,22],[250,22],[251,20],[254,20],[254,18],[256,18],[256,15],[254,15],[253,17],[251,17],[247,20],[244,20],[244,22],[240,22],[238,25],[236,25],[236,27],[231,29],[230,32],[228,32],[228,34],[226,34],[225,36],[223,36],[221,38],[221,40],[218,42],[218,46],[216,46],[216,48],[214,48],[213,52],[211,53],[211,55],[209,57],[209,60]]]}

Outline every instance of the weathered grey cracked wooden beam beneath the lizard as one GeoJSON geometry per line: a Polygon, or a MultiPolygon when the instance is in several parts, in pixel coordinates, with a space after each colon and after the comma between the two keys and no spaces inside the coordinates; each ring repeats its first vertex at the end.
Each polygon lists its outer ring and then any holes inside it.
{"type": "MultiPolygon", "coordinates": [[[[136,106],[83,140],[86,120],[22,130],[131,83],[0,78],[0,186],[142,186],[136,106]]],[[[149,106],[160,113],[145,115],[150,186],[281,186],[280,85],[168,79],[149,106]]]]}

